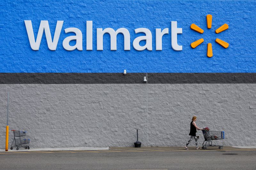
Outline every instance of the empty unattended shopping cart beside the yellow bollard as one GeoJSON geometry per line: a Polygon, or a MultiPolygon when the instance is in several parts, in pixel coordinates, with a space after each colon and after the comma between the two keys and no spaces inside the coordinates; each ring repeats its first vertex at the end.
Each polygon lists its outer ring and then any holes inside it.
{"type": "Polygon", "coordinates": [[[23,138],[24,136],[27,135],[27,132],[20,131],[20,130],[12,130],[12,131],[13,131],[14,139],[12,141],[11,150],[13,149],[13,147],[17,147],[16,150],[19,150],[19,148],[22,148],[22,147],[24,147],[25,149],[29,149],[28,144],[30,143],[30,139],[23,138]]]}

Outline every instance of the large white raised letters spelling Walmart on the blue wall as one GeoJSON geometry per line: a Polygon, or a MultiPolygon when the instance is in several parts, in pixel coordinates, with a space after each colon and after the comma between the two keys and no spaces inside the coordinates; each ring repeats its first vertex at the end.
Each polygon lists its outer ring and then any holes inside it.
{"type": "MultiPolygon", "coordinates": [[[[57,48],[57,44],[60,38],[60,32],[63,26],[64,21],[57,21],[57,25],[55,28],[55,33],[52,36],[50,32],[50,27],[48,21],[41,21],[39,30],[37,33],[37,38],[35,41],[34,30],[32,27],[32,22],[30,20],[25,20],[26,30],[28,33],[28,39],[30,43],[30,47],[33,50],[39,50],[40,43],[42,40],[43,32],[45,32],[46,41],[48,48],[52,51],[55,51],[57,48]]],[[[181,51],[182,46],[177,43],[177,34],[182,34],[182,28],[177,28],[177,21],[172,21],[172,49],[176,51],[181,51]]],[[[145,33],[145,36],[139,36],[133,40],[133,48],[137,51],[143,51],[147,49],[148,51],[152,51],[152,33],[147,28],[137,28],[134,30],[135,33],[145,33]],[[140,46],[140,41],[146,41],[144,46],[140,46]]],[[[79,51],[83,51],[83,34],[81,30],[78,28],[66,28],[65,33],[75,33],[76,35],[66,37],[62,46],[65,50],[73,51],[75,49],[79,51]],[[72,40],[76,40],[76,44],[73,46],[69,45],[69,42],[72,40]]],[[[130,51],[130,33],[126,28],[119,28],[116,31],[113,28],[97,28],[97,50],[103,50],[103,35],[108,33],[110,35],[110,50],[116,50],[116,36],[119,33],[124,35],[124,50],[130,51]]],[[[168,34],[169,29],[164,28],[161,31],[161,28],[156,28],[156,50],[162,50],[162,37],[164,34],[168,34]]],[[[92,50],[92,21],[86,21],[86,50],[92,50]]]]}

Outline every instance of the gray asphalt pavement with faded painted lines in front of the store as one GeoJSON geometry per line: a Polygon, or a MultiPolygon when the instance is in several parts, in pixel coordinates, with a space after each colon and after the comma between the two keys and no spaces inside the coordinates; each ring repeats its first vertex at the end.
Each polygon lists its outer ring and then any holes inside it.
{"type": "Polygon", "coordinates": [[[109,150],[0,152],[0,169],[255,169],[256,149],[142,147],[109,150]]]}

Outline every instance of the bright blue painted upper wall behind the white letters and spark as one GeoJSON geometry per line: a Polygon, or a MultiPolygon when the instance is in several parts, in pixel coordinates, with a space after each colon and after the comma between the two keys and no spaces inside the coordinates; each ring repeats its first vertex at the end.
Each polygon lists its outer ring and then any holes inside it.
{"type": "Polygon", "coordinates": [[[166,1],[166,0],[93,0],[61,2],[4,0],[0,2],[0,72],[256,72],[256,1],[166,1]],[[212,15],[212,29],[207,29],[206,15],[212,15]],[[56,51],[50,51],[43,35],[39,51],[30,48],[24,20],[32,20],[34,33],[41,20],[48,20],[53,35],[57,20],[64,20],[56,51]],[[93,21],[93,51],[86,51],[86,20],[93,21]],[[182,51],[171,48],[171,21],[177,21],[182,51]],[[204,29],[200,34],[190,29],[195,23],[204,29]],[[216,34],[219,26],[229,29],[216,34]],[[83,33],[83,51],[66,51],[62,41],[68,27],[83,33]],[[110,37],[104,35],[103,51],[96,49],[96,28],[127,28],[131,51],[124,51],[123,35],[117,36],[117,51],[110,51],[110,37]],[[153,36],[153,51],[132,47],[134,29],[145,27],[153,36]],[[163,50],[156,51],[155,29],[169,28],[163,36],[163,50]],[[190,43],[204,38],[192,49],[190,43]],[[215,42],[229,43],[227,49],[215,42]],[[206,56],[212,43],[213,57],[206,56]]]}

